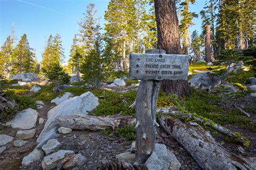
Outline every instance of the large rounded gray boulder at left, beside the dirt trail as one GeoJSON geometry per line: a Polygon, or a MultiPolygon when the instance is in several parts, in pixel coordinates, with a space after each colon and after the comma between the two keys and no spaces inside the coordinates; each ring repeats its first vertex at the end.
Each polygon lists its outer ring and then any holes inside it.
{"type": "Polygon", "coordinates": [[[37,117],[38,117],[38,112],[34,109],[29,108],[29,109],[18,112],[15,118],[7,122],[6,125],[11,125],[12,128],[19,128],[19,129],[35,128],[37,117]]]}

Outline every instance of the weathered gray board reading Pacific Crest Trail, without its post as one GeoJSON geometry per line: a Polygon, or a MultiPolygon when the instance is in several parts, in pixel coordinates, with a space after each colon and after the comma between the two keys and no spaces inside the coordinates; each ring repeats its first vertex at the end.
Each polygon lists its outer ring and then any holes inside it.
{"type": "Polygon", "coordinates": [[[188,55],[130,54],[130,79],[187,80],[188,55]]]}

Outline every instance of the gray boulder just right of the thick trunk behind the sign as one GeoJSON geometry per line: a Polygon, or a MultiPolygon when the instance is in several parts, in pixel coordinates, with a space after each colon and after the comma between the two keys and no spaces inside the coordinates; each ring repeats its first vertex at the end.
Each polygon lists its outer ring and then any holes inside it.
{"type": "Polygon", "coordinates": [[[214,74],[213,72],[194,74],[191,79],[188,80],[188,83],[197,89],[212,89],[221,84],[220,76],[214,74]]]}

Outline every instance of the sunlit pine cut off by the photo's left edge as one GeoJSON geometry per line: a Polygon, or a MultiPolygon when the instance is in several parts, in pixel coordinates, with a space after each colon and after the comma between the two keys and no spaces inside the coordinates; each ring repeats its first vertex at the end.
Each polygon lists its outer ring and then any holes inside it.
{"type": "Polygon", "coordinates": [[[0,55],[0,74],[4,74],[6,77],[10,76],[12,65],[15,61],[14,56],[14,36],[8,36],[1,46],[0,55]]]}

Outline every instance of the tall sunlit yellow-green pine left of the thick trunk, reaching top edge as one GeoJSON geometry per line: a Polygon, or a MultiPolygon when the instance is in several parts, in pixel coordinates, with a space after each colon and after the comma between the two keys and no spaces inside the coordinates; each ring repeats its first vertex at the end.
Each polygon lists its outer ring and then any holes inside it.
{"type": "Polygon", "coordinates": [[[127,54],[130,51],[127,44],[132,44],[134,35],[138,35],[136,11],[136,3],[132,0],[111,0],[105,11],[106,34],[113,39],[114,46],[116,46],[114,49],[120,56],[121,70],[125,70],[126,65],[129,64],[127,54]]]}

